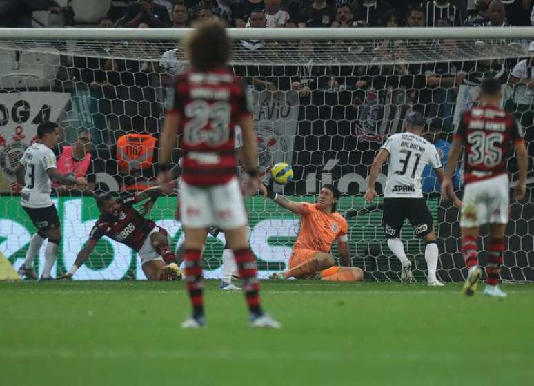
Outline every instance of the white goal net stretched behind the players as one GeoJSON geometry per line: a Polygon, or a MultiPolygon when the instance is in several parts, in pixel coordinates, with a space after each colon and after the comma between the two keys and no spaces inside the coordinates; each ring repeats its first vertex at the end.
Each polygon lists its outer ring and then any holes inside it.
{"type": "MultiPolygon", "coordinates": [[[[68,270],[88,239],[99,215],[93,194],[121,194],[156,183],[158,144],[150,145],[150,136],[157,140],[161,131],[172,77],[186,68],[177,44],[185,33],[77,28],[0,31],[0,259],[8,259],[17,269],[35,232],[20,206],[14,167],[43,120],[59,123],[58,160],[63,157],[67,164],[63,166],[73,167],[66,162],[72,157],[65,150],[72,146],[78,165],[75,173],[86,173],[92,189],[79,192],[58,186],[52,197],[62,227],[53,274],[68,270]],[[83,141],[88,134],[91,158],[84,164],[83,141]],[[141,151],[141,146],[148,147],[141,151]],[[155,147],[153,152],[150,146],[155,147]],[[145,157],[137,158],[138,153],[145,157]]],[[[365,204],[363,193],[376,151],[388,135],[403,130],[409,111],[424,114],[428,126],[424,135],[446,160],[459,113],[475,103],[482,79],[499,78],[502,106],[525,126],[529,155],[533,153],[534,93],[524,84],[508,81],[510,75],[533,77],[530,29],[255,28],[230,30],[230,34],[234,38],[231,68],[252,97],[259,165],[266,178],[270,166],[283,161],[293,166],[294,178],[277,189],[292,200],[316,200],[326,183],[338,187],[343,194],[339,211],[357,210],[348,220],[350,253],[353,264],[364,269],[366,280],[399,280],[401,267],[388,250],[381,226],[381,200],[365,204]]],[[[508,170],[514,180],[515,162],[508,170]]],[[[532,165],[528,173],[526,199],[511,204],[504,280],[534,280],[532,165]]],[[[384,166],[379,191],[386,174],[384,166]]],[[[454,178],[459,195],[461,176],[459,165],[454,178]]],[[[445,281],[464,280],[458,210],[440,201],[433,171],[425,171],[422,184],[438,236],[438,274],[445,281]]],[[[252,229],[250,246],[260,276],[267,278],[286,269],[299,218],[261,197],[246,197],[245,202],[252,229]]],[[[167,229],[172,248],[183,240],[175,209],[176,197],[159,197],[147,215],[167,229]]],[[[415,263],[415,278],[424,280],[424,244],[408,224],[402,239],[415,263]]],[[[206,277],[220,276],[223,247],[223,233],[208,237],[206,277]]],[[[44,261],[40,253],[34,259],[39,273],[44,261]]],[[[333,255],[338,256],[336,247],[333,255]]],[[[484,253],[481,260],[484,264],[484,253]]],[[[106,238],[75,275],[77,280],[124,278],[144,279],[139,256],[106,238]]]]}

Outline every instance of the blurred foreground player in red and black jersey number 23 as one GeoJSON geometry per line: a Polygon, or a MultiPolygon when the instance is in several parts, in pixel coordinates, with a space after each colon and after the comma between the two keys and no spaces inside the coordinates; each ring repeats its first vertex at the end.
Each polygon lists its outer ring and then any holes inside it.
{"type": "Polygon", "coordinates": [[[220,22],[207,21],[190,32],[185,48],[190,70],[177,77],[159,153],[160,179],[167,181],[170,173],[166,172],[165,164],[170,161],[177,133],[181,134],[184,162],[179,212],[186,239],[185,273],[192,303],[192,317],[181,327],[198,328],[206,323],[201,250],[208,227],[216,226],[224,230],[243,279],[250,325],[279,328],[279,323],[261,308],[255,259],[248,247],[248,219],[236,176],[235,125],[241,126],[242,159],[250,175],[249,184],[256,190],[260,184],[257,143],[246,91],[239,78],[226,69],[230,40],[220,22]]]}

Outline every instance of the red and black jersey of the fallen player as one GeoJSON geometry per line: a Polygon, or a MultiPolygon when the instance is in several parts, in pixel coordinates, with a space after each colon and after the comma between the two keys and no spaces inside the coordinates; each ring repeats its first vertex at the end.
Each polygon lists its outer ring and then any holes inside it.
{"type": "Polygon", "coordinates": [[[101,215],[89,234],[90,240],[98,241],[102,236],[128,245],[139,252],[146,237],[156,226],[152,220],[147,220],[132,204],[137,202],[135,195],[128,195],[119,200],[121,204],[117,218],[101,215]]]}

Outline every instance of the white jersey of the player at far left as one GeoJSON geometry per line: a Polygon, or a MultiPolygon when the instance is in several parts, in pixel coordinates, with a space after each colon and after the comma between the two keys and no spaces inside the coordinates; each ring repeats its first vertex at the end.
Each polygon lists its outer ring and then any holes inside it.
{"type": "Polygon", "coordinates": [[[26,208],[47,208],[52,205],[52,182],[46,171],[56,168],[54,152],[48,146],[35,143],[26,149],[20,162],[26,168],[21,205],[26,208]]]}

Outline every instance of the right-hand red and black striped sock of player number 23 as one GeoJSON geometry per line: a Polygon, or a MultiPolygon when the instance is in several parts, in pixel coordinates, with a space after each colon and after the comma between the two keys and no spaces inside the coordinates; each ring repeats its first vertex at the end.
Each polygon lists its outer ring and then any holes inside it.
{"type": "Polygon", "coordinates": [[[235,263],[239,269],[239,276],[243,279],[243,291],[250,313],[256,316],[263,315],[259,301],[259,282],[257,280],[256,263],[250,249],[237,249],[234,252],[235,263]]]}

